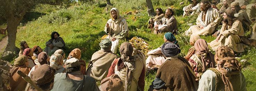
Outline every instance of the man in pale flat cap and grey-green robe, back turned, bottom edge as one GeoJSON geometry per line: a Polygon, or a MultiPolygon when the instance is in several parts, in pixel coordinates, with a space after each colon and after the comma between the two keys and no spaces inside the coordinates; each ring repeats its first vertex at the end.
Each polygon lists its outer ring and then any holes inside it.
{"type": "Polygon", "coordinates": [[[66,73],[57,73],[51,91],[100,91],[96,80],[82,75],[78,59],[71,58],[65,62],[66,73]]]}

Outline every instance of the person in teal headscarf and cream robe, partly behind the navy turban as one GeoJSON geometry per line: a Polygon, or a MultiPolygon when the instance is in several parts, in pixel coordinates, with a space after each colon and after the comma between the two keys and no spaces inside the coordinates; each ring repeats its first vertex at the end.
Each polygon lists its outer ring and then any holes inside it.
{"type": "MultiPolygon", "coordinates": [[[[180,53],[180,47],[178,44],[178,41],[176,40],[176,37],[168,32],[164,34],[164,42],[170,42],[173,44],[176,44],[178,46],[178,53],[180,53]]],[[[150,50],[147,53],[148,57],[146,59],[146,68],[147,70],[153,70],[159,68],[165,61],[165,58],[163,54],[161,53],[161,47],[158,47],[157,49],[150,50]]]]}

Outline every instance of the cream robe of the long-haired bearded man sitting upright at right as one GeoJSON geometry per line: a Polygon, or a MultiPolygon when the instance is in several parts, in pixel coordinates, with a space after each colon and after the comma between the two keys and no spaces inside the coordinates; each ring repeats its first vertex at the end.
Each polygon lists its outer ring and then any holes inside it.
{"type": "Polygon", "coordinates": [[[205,21],[203,21],[203,11],[198,15],[198,18],[196,19],[196,25],[190,26],[187,31],[185,31],[185,34],[192,35],[209,35],[212,34],[215,31],[215,28],[219,23],[221,22],[221,15],[217,9],[209,8],[207,10],[207,13],[205,15],[205,21]],[[204,29],[200,30],[200,25],[204,26],[204,29]]]}

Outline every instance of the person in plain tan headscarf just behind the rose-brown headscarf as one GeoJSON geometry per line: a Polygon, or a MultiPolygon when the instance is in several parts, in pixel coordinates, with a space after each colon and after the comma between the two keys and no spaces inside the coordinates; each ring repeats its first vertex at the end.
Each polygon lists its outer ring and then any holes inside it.
{"type": "Polygon", "coordinates": [[[200,36],[199,36],[199,35],[196,35],[196,34],[193,34],[193,35],[190,36],[189,44],[190,44],[192,47],[189,48],[187,55],[184,56],[184,58],[185,58],[186,60],[189,60],[189,58],[190,58],[192,55],[195,54],[196,49],[195,49],[194,44],[196,43],[197,39],[199,39],[199,38],[200,38],[200,36]]]}

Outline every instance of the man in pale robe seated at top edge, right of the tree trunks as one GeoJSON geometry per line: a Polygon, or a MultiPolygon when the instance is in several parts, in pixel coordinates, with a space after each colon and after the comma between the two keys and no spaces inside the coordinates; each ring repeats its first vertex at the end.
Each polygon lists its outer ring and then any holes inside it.
{"type": "Polygon", "coordinates": [[[192,3],[189,4],[188,6],[183,7],[183,16],[189,16],[189,15],[194,15],[196,13],[196,10],[199,8],[199,3],[197,0],[192,0],[192,3]]]}

